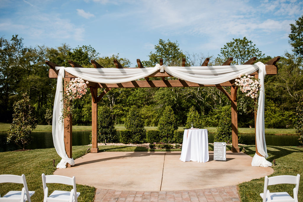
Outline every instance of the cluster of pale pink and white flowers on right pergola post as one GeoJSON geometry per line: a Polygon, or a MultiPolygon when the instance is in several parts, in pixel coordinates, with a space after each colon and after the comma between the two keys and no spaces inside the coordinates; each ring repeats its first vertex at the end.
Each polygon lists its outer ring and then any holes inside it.
{"type": "Polygon", "coordinates": [[[261,84],[259,79],[254,76],[245,74],[239,75],[239,79],[235,79],[235,85],[239,86],[242,93],[245,93],[245,96],[251,98],[258,98],[258,91],[261,84]]]}

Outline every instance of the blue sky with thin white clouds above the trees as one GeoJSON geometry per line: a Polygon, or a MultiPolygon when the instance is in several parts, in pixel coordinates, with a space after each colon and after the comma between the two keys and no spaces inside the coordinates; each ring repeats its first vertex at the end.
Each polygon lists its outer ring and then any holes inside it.
{"type": "Polygon", "coordinates": [[[18,34],[32,47],[92,45],[132,66],[147,60],[160,38],[216,57],[233,38],[247,37],[273,57],[291,51],[289,24],[302,14],[301,0],[0,0],[0,36],[18,34]]]}

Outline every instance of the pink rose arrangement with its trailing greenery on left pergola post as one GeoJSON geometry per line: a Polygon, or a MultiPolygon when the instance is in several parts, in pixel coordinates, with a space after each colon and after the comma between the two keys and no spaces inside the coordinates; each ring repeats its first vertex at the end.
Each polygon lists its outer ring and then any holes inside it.
{"type": "Polygon", "coordinates": [[[60,117],[61,121],[68,115],[73,114],[75,102],[87,92],[86,84],[88,84],[88,81],[85,83],[82,78],[72,78],[71,81],[65,83],[66,91],[63,95],[64,108],[62,109],[62,117],[60,117]]]}

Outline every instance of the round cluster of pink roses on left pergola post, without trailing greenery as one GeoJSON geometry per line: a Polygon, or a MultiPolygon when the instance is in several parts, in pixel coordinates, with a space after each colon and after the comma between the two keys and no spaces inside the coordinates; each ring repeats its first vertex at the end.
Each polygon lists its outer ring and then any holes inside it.
{"type": "Polygon", "coordinates": [[[69,100],[80,99],[86,94],[88,81],[86,83],[82,78],[72,78],[66,86],[66,95],[69,100]]]}

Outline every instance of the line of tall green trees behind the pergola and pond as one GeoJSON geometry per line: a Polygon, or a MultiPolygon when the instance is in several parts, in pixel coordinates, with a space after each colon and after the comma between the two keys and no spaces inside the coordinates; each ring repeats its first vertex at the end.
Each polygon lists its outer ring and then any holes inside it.
{"type": "MultiPolygon", "coordinates": [[[[289,43],[293,52],[281,53],[277,62],[278,74],[265,77],[265,127],[293,128],[297,122],[296,103],[303,89],[302,74],[302,16],[291,24],[289,43]]],[[[271,59],[265,56],[252,41],[246,37],[227,42],[217,57],[210,58],[208,65],[222,65],[227,58],[233,57],[232,65],[243,64],[256,56],[257,61],[271,59]]],[[[186,58],[186,66],[200,66],[206,56],[201,53],[182,51],[177,41],[159,39],[149,60],[142,61],[144,67],[154,67],[163,58],[164,65],[181,66],[186,58]]],[[[67,44],[51,48],[46,46],[26,47],[23,39],[13,35],[11,39],[0,38],[0,122],[12,122],[12,105],[27,93],[36,110],[37,124],[51,124],[52,108],[56,89],[56,79],[48,78],[49,67],[45,60],[60,66],[70,66],[72,60],[85,68],[93,68],[93,59],[103,67],[114,68],[114,59],[128,68],[131,62],[119,54],[102,57],[90,45],[71,48],[67,44]]],[[[161,79],[161,78],[151,78],[161,79]]],[[[176,78],[166,78],[176,79],[176,78]]],[[[104,89],[98,89],[101,93],[104,89]]],[[[230,89],[226,88],[227,91],[230,89]]],[[[89,91],[88,91],[89,92],[89,91]]],[[[251,103],[247,103],[243,94],[238,92],[238,127],[254,127],[254,113],[251,103]]],[[[219,116],[228,98],[214,87],[192,88],[112,88],[98,104],[112,111],[115,124],[125,122],[128,111],[136,105],[142,115],[145,126],[157,126],[165,107],[175,112],[179,126],[186,123],[186,114],[191,107],[198,111],[205,127],[218,126],[219,116]]],[[[91,124],[91,94],[83,96],[73,115],[73,124],[91,124]]]]}

